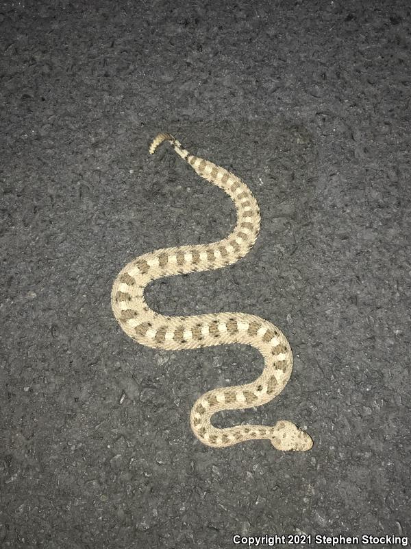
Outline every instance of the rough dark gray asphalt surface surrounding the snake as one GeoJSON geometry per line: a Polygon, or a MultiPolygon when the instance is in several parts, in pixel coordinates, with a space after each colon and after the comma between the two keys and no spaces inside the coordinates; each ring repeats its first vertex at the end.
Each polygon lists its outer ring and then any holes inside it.
{"type": "Polygon", "coordinates": [[[410,23],[406,1],[1,3],[1,548],[411,535],[410,23]],[[116,324],[128,261],[235,222],[170,148],[149,157],[158,131],[245,180],[262,230],[147,301],[281,327],[283,393],[215,421],[290,419],[310,452],[192,435],[195,399],[255,379],[258,351],[116,324]]]}

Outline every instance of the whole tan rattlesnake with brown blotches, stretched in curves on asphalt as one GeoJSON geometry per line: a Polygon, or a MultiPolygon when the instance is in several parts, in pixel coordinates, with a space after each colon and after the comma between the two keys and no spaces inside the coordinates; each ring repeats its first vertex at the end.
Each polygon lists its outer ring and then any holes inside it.
{"type": "Polygon", "coordinates": [[[311,437],[290,421],[277,421],[273,427],[236,425],[223,429],[215,428],[210,421],[212,415],[221,410],[260,406],[281,393],[292,370],[290,345],[281,330],[258,316],[239,312],[164,316],[152,311],[145,302],[145,287],[156,279],[219,269],[235,263],[247,254],[260,230],[260,209],[245,183],[223,167],[192,156],[168,133],[155,137],[150,154],[163,141],[169,141],[175,152],[199,176],[220,187],[232,198],[237,213],[236,226],[219,242],[162,248],[131,261],[113,284],[114,316],[128,336],[155,349],[179,351],[242,343],[260,351],[264,369],[256,381],[210,390],[195,402],[190,423],[202,443],[219,448],[253,439],[268,439],[279,450],[309,450],[312,447],[311,437]]]}

